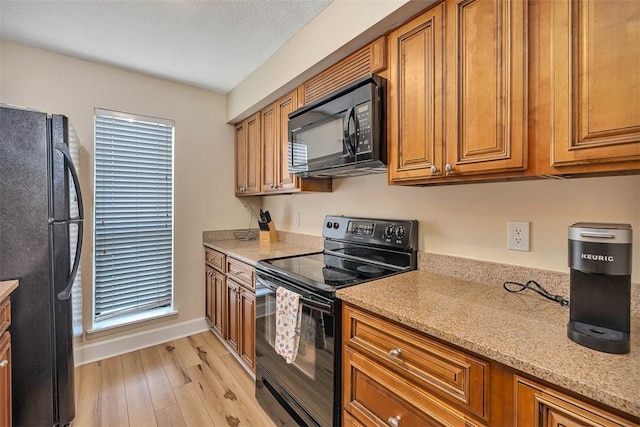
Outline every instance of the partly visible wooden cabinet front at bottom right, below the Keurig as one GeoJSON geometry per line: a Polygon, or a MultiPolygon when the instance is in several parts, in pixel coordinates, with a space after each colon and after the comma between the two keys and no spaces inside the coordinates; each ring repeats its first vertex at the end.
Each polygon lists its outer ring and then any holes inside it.
{"type": "Polygon", "coordinates": [[[543,427],[633,426],[613,414],[516,376],[516,425],[543,427]]]}

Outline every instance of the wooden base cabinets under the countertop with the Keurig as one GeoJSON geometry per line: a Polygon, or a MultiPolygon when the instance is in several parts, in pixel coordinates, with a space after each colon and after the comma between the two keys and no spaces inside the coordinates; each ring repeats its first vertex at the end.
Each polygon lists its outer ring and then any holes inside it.
{"type": "Polygon", "coordinates": [[[377,314],[342,310],[345,426],[639,426],[377,314]]]}

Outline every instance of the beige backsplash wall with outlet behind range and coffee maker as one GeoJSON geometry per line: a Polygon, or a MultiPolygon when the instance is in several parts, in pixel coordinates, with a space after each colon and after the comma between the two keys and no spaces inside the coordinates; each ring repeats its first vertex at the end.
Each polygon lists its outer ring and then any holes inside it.
{"type": "Polygon", "coordinates": [[[318,235],[324,215],[420,221],[420,250],[568,272],[568,227],[629,223],[640,282],[640,176],[390,187],[386,175],[334,180],[333,193],[265,197],[280,230],[318,235]],[[293,215],[300,213],[300,226],[293,215]],[[507,250],[507,221],[531,222],[531,252],[507,250]]]}

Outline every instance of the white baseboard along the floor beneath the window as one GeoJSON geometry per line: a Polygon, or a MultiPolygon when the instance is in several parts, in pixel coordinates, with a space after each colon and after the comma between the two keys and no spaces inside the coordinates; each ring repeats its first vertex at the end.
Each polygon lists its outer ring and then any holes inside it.
{"type": "Polygon", "coordinates": [[[203,318],[175,323],[144,332],[136,332],[98,343],[86,343],[74,348],[75,365],[81,366],[97,360],[108,359],[131,351],[162,344],[163,342],[208,331],[209,324],[203,318]]]}

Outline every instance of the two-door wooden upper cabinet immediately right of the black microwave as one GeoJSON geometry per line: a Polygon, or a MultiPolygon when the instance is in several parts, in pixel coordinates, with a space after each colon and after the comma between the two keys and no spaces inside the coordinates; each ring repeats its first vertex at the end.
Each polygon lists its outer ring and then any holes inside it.
{"type": "Polygon", "coordinates": [[[390,182],[527,168],[526,30],[526,2],[448,0],[389,35],[390,182]]]}

